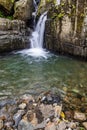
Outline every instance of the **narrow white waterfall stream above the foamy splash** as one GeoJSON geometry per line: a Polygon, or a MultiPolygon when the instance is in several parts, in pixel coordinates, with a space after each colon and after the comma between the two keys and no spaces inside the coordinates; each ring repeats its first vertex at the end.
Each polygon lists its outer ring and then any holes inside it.
{"type": "Polygon", "coordinates": [[[43,13],[40,16],[35,31],[31,35],[30,38],[31,48],[43,48],[43,37],[44,37],[46,19],[47,19],[47,12],[43,13]]]}

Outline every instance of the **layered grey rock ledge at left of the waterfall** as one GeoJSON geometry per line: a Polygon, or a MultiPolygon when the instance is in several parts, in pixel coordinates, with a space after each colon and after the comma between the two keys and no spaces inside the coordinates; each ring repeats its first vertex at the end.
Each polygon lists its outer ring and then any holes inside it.
{"type": "Polygon", "coordinates": [[[27,47],[26,31],[24,21],[0,18],[0,53],[27,47]]]}

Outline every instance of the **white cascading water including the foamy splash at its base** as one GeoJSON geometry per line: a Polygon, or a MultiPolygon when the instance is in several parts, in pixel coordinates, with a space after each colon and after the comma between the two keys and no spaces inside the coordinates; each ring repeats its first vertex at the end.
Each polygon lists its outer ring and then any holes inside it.
{"type": "MultiPolygon", "coordinates": [[[[35,5],[34,1],[34,5],[35,5]]],[[[37,8],[36,8],[37,10],[37,8]]],[[[36,12],[34,12],[36,14],[36,12]]],[[[25,49],[20,51],[23,55],[33,56],[33,57],[44,57],[47,58],[48,52],[43,49],[44,42],[44,31],[45,31],[45,22],[47,20],[47,12],[43,13],[38,23],[35,27],[34,32],[32,32],[30,37],[30,49],[25,49]]]]}

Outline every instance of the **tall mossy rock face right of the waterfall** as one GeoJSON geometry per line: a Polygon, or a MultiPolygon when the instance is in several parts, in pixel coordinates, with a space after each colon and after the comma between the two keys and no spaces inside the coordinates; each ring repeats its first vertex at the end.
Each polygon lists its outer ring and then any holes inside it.
{"type": "Polygon", "coordinates": [[[86,7],[86,0],[61,0],[60,5],[50,4],[45,31],[47,49],[87,57],[86,7]]]}

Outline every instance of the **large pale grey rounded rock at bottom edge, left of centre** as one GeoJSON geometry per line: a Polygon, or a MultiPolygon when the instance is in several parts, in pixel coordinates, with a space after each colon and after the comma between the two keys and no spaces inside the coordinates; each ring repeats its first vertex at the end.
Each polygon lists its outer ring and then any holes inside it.
{"type": "Polygon", "coordinates": [[[18,130],[34,130],[34,127],[33,127],[33,125],[30,122],[22,119],[19,122],[18,130]]]}

